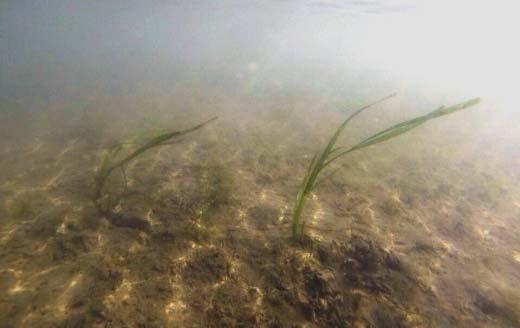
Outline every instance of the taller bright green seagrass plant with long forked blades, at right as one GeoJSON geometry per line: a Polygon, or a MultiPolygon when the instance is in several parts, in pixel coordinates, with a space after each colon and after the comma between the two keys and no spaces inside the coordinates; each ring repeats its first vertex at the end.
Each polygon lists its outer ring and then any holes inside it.
{"type": "Polygon", "coordinates": [[[345,127],[348,125],[348,123],[354,117],[361,114],[365,109],[367,109],[375,104],[378,104],[388,98],[391,98],[394,95],[395,94],[392,94],[390,96],[387,96],[383,99],[380,99],[372,104],[369,104],[367,106],[364,106],[364,107],[354,111],[336,129],[336,131],[330,138],[327,146],[323,149],[323,151],[319,155],[318,154],[314,155],[314,157],[312,158],[312,160],[309,164],[309,167],[308,167],[305,177],[303,179],[300,190],[296,196],[296,202],[294,204],[294,211],[292,214],[292,235],[295,240],[301,241],[302,238],[304,237],[305,220],[304,220],[304,217],[302,216],[302,213],[303,213],[303,209],[305,207],[305,202],[307,200],[307,197],[309,196],[309,194],[311,192],[313,192],[316,189],[316,187],[318,187],[323,181],[325,181],[327,178],[331,177],[337,171],[337,170],[333,170],[332,172],[329,172],[328,174],[326,174],[324,177],[321,177],[320,179],[318,179],[320,177],[321,173],[324,171],[324,169],[326,169],[332,162],[336,161],[337,159],[339,159],[347,154],[350,154],[353,151],[360,150],[365,147],[372,146],[372,145],[381,143],[383,141],[387,141],[389,139],[395,138],[403,133],[406,133],[406,132],[426,123],[429,120],[432,120],[434,118],[438,118],[438,117],[441,117],[444,115],[452,114],[459,110],[473,106],[480,101],[480,98],[474,98],[474,99],[453,105],[448,108],[440,107],[426,115],[416,117],[414,119],[391,126],[388,129],[382,130],[350,148],[335,147],[339,136],[341,135],[341,133],[343,132],[345,127]]]}

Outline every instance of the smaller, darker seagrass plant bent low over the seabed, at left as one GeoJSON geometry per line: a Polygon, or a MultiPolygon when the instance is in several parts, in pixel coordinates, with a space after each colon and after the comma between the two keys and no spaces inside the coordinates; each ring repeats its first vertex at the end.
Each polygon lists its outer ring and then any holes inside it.
{"type": "MultiPolygon", "coordinates": [[[[123,150],[123,144],[119,143],[112,147],[110,151],[107,153],[105,158],[103,159],[103,162],[96,172],[96,176],[94,178],[95,181],[95,192],[94,192],[94,202],[98,206],[98,208],[101,209],[101,204],[99,203],[100,199],[103,196],[103,189],[104,186],[110,177],[110,175],[116,171],[117,169],[121,170],[121,173],[123,174],[123,177],[125,179],[126,183],[126,174],[125,174],[125,167],[126,165],[133,160],[134,158],[142,155],[147,150],[150,150],[155,147],[165,146],[172,144],[172,140],[179,138],[181,136],[184,136],[190,132],[194,132],[196,130],[199,130],[206,126],[207,124],[213,122],[217,118],[214,117],[210,120],[207,120],[205,122],[202,122],[200,124],[197,124],[191,128],[185,129],[185,130],[179,130],[179,131],[173,131],[173,132],[167,132],[163,133],[161,135],[158,135],[156,137],[153,137],[148,142],[143,144],[142,146],[138,147],[134,151],[130,152],[127,156],[122,157],[119,160],[116,160],[117,156],[120,154],[120,152],[123,150]]],[[[106,209],[104,209],[106,210],[106,209]]]]}

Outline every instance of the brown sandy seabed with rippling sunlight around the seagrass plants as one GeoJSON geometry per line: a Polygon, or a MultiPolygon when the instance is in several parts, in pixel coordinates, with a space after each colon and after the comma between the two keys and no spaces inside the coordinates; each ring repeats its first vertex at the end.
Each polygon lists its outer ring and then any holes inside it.
{"type": "Polygon", "coordinates": [[[341,113],[227,105],[3,114],[0,327],[520,326],[520,154],[463,153],[442,123],[353,154],[296,245],[297,188],[341,113]],[[108,145],[212,115],[113,174],[121,224],[97,211],[108,145]]]}

